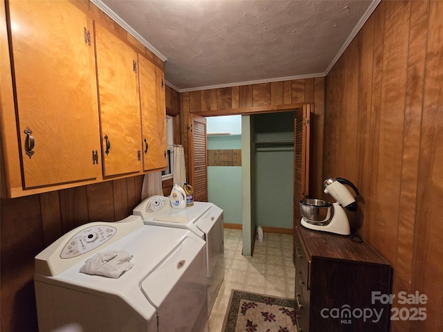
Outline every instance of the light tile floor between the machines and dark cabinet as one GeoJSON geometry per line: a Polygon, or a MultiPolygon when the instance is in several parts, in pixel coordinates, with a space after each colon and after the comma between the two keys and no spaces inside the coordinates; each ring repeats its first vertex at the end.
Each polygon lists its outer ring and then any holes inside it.
{"type": "Polygon", "coordinates": [[[224,230],[225,276],[209,316],[209,332],[221,332],[230,291],[294,298],[292,235],[264,233],[252,257],[242,255],[242,231],[224,230]]]}

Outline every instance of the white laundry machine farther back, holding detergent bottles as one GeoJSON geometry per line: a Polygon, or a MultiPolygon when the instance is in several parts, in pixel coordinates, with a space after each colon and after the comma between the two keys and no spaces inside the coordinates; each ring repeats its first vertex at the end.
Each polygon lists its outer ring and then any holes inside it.
{"type": "Polygon", "coordinates": [[[152,196],[134,210],[146,225],[191,230],[206,241],[206,277],[208,278],[208,313],[224,279],[223,210],[208,202],[194,202],[183,209],[172,208],[170,199],[152,196]]]}

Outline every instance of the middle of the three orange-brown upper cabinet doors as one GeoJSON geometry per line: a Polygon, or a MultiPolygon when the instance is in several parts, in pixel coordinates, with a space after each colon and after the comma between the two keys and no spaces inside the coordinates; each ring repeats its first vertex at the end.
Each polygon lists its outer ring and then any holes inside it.
{"type": "Polygon", "coordinates": [[[95,22],[103,175],[140,172],[137,53],[95,22]]]}

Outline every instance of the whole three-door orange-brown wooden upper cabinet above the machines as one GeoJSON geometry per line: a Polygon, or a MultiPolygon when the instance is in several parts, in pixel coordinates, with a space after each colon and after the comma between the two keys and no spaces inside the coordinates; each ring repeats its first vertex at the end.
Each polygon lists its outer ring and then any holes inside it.
{"type": "Polygon", "coordinates": [[[115,33],[114,24],[91,3],[10,0],[4,5],[1,197],[164,169],[160,60],[145,50],[140,71],[143,46],[115,33]]]}

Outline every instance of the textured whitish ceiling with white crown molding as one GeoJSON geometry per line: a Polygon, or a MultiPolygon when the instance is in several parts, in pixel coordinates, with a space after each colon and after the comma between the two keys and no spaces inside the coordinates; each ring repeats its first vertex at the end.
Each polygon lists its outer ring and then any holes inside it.
{"type": "Polygon", "coordinates": [[[379,0],[91,0],[179,91],[327,74],[379,0]]]}

